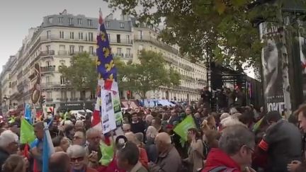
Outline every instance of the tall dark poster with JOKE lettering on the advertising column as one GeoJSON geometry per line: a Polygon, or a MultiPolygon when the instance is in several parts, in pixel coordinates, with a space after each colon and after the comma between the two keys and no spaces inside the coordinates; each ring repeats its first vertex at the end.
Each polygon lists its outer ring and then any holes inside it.
{"type": "Polygon", "coordinates": [[[266,110],[283,113],[285,101],[283,93],[282,56],[278,42],[278,28],[271,23],[261,23],[259,32],[264,47],[261,52],[263,70],[263,98],[266,110]]]}

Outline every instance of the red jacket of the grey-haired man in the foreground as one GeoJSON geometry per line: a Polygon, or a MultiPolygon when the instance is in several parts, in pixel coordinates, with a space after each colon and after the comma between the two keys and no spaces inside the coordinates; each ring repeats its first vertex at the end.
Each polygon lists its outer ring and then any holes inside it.
{"type": "Polygon", "coordinates": [[[227,168],[234,168],[232,172],[241,172],[239,164],[231,159],[224,151],[218,148],[212,148],[206,159],[205,168],[202,172],[209,172],[218,166],[226,166],[227,168]]]}

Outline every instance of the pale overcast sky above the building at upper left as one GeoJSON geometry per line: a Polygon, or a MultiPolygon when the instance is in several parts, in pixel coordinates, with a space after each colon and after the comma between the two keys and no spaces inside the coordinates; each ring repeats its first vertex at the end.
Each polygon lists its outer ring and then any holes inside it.
{"type": "Polygon", "coordinates": [[[67,9],[74,15],[98,18],[100,7],[104,17],[111,13],[103,0],[0,0],[0,72],[8,57],[16,55],[28,28],[40,25],[43,16],[67,9]]]}

